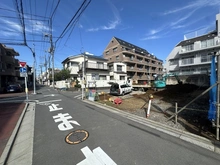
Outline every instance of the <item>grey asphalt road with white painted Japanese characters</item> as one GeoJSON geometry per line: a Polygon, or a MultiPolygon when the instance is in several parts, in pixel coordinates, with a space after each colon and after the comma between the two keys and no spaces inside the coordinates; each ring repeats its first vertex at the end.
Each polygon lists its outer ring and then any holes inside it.
{"type": "Polygon", "coordinates": [[[40,92],[36,96],[33,165],[220,162],[219,154],[82,102],[75,97],[80,92],[49,88],[40,92]]]}

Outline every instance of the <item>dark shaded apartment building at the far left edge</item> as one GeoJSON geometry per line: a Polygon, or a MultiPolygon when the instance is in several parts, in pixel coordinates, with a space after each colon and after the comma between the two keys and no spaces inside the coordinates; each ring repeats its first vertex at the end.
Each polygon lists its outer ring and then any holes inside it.
{"type": "Polygon", "coordinates": [[[19,56],[19,53],[13,48],[0,44],[0,93],[4,92],[7,83],[15,82],[20,76],[19,61],[15,56],[19,56]]]}

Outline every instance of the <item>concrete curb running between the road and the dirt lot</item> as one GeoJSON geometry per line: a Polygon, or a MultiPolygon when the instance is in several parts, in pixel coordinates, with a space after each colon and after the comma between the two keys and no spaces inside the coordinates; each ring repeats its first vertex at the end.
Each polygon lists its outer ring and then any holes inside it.
{"type": "Polygon", "coordinates": [[[108,111],[120,114],[121,116],[126,117],[129,120],[138,122],[140,124],[154,128],[160,132],[169,134],[169,135],[174,136],[176,138],[179,138],[181,140],[187,141],[189,143],[195,144],[197,146],[200,146],[202,148],[205,148],[207,150],[210,150],[212,152],[220,154],[220,142],[217,140],[216,141],[209,140],[209,139],[206,139],[206,138],[201,137],[199,135],[195,135],[195,134],[183,131],[183,130],[179,130],[179,129],[170,127],[168,125],[163,125],[163,124],[156,122],[156,121],[153,121],[153,120],[146,120],[143,117],[140,117],[140,116],[128,113],[128,112],[124,112],[124,111],[121,111],[117,108],[110,107],[108,105],[104,105],[104,104],[101,104],[98,102],[93,102],[93,101],[89,101],[89,100],[83,100],[83,102],[86,102],[88,104],[95,105],[99,108],[104,108],[108,111]],[[145,119],[145,120],[143,120],[143,119],[145,119]]]}

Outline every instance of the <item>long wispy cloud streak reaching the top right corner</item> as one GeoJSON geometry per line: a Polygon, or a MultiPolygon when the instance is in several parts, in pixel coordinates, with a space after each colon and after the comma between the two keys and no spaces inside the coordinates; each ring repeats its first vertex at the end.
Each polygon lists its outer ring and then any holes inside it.
{"type": "Polygon", "coordinates": [[[203,8],[203,7],[219,7],[220,1],[219,0],[196,0],[192,1],[191,3],[188,3],[185,6],[182,6],[180,8],[172,9],[169,11],[166,11],[163,13],[163,15],[168,15],[168,14],[175,14],[177,12],[181,12],[183,10],[189,10],[189,9],[194,9],[194,8],[203,8]]]}

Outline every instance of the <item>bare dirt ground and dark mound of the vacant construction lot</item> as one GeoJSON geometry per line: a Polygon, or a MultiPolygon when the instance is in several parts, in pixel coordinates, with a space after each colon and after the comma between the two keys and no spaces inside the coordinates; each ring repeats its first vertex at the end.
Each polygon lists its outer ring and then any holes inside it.
{"type": "Polygon", "coordinates": [[[213,127],[212,123],[207,119],[209,93],[202,95],[195,102],[187,106],[185,110],[181,111],[178,114],[177,124],[175,124],[174,118],[167,121],[168,118],[174,114],[176,105],[178,110],[180,110],[205,90],[204,88],[189,84],[171,85],[160,91],[148,89],[146,92],[134,91],[128,95],[119,96],[122,99],[122,103],[118,105],[110,101],[112,98],[118,96],[101,94],[99,96],[99,102],[145,117],[147,118],[146,120],[154,120],[209,139],[215,139],[216,128],[213,127]],[[152,100],[150,116],[146,117],[150,94],[152,94],[154,98],[152,100]]]}

